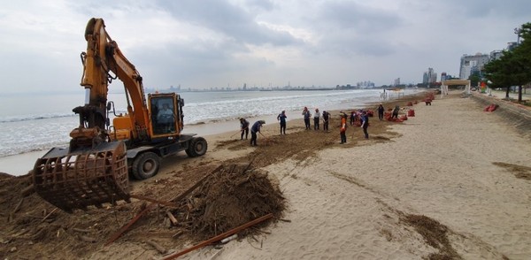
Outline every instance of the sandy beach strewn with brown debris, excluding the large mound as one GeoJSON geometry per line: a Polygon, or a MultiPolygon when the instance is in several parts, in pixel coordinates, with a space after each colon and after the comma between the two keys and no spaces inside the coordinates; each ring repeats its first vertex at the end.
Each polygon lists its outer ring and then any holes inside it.
{"type": "MultiPolygon", "coordinates": [[[[197,172],[251,160],[278,184],[286,202],[281,219],[254,235],[180,259],[529,259],[529,140],[499,113],[483,111],[458,91],[435,98],[432,105],[412,106],[415,117],[402,123],[371,118],[368,140],[359,127],[350,127],[346,145],[339,144],[338,111],[328,133],[303,130],[302,119],[289,121],[288,135],[278,135],[276,123],[266,124],[267,138],[258,137],[258,148],[234,133],[209,135],[204,157],[173,157],[175,164],[165,162],[156,177],[133,182],[133,192],[168,198],[202,178],[197,172]]],[[[24,178],[0,180],[2,216],[22,197],[11,194],[27,185],[24,178]]],[[[35,210],[53,209],[30,195],[2,228],[0,256],[161,259],[141,238],[158,241],[169,254],[197,243],[188,235],[173,238],[177,229],[162,224],[163,209],[104,247],[141,204],[57,211],[52,221],[22,221],[38,215],[35,210]],[[80,241],[74,226],[90,229],[97,241],[80,241]],[[39,237],[40,230],[46,233],[39,237]]]]}

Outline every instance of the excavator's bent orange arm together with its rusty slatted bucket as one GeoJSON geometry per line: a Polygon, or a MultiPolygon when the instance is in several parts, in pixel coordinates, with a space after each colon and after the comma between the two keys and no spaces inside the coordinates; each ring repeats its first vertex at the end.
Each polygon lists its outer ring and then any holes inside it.
{"type": "Polygon", "coordinates": [[[107,94],[112,80],[124,83],[131,138],[149,138],[149,111],[142,77],[105,31],[103,19],[90,19],[85,30],[87,51],[81,53],[85,104],[73,111],[80,124],[70,133],[68,149],[51,149],[35,163],[35,191],[61,210],[129,201],[126,145],[111,141],[106,126],[107,94]]]}

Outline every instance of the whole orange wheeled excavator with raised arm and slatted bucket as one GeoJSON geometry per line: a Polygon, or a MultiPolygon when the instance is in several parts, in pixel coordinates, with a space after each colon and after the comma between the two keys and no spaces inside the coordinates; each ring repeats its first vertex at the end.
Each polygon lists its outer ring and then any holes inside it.
{"type": "Polygon", "coordinates": [[[107,34],[103,19],[89,20],[85,40],[85,104],[73,109],[80,125],[70,133],[68,148],[50,149],[31,173],[36,193],[66,212],[129,202],[129,174],[145,180],[158,173],[162,158],[182,150],[199,157],[207,149],[203,137],[181,134],[184,101],[179,95],[149,94],[146,102],[140,73],[107,34]],[[117,115],[107,101],[116,79],[124,85],[125,115],[117,115]]]}

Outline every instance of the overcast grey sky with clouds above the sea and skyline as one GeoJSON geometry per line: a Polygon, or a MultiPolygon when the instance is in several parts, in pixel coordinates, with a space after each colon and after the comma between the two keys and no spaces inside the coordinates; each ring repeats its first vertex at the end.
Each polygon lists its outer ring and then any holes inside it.
{"type": "MultiPolygon", "coordinates": [[[[0,0],[0,88],[79,91],[90,18],[146,88],[418,83],[503,50],[529,0],[0,0]]],[[[120,83],[112,88],[122,88],[120,83]]]]}

